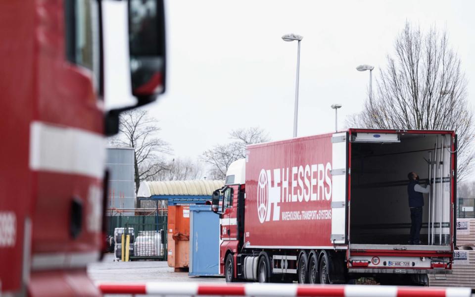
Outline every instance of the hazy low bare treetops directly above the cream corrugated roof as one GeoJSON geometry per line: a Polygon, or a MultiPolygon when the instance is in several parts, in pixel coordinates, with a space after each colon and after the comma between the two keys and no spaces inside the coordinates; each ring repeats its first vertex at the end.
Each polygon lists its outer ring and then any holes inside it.
{"type": "Polygon", "coordinates": [[[203,168],[197,161],[190,158],[174,158],[168,161],[165,165],[166,170],[162,170],[147,178],[149,181],[185,181],[201,179],[203,175],[203,168]]]}

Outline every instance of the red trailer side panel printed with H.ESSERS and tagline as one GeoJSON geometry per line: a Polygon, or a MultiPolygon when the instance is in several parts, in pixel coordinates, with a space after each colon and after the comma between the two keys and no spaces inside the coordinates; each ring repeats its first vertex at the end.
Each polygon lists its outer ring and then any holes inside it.
{"type": "Polygon", "coordinates": [[[248,147],[244,246],[331,246],[331,170],[332,134],[248,147]]]}

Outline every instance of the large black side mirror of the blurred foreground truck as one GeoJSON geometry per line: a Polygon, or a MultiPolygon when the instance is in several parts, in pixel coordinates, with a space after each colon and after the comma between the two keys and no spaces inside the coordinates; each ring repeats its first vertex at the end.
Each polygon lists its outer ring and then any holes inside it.
{"type": "Polygon", "coordinates": [[[129,0],[129,55],[132,94],[138,105],[165,92],[163,0],[129,0]]]}

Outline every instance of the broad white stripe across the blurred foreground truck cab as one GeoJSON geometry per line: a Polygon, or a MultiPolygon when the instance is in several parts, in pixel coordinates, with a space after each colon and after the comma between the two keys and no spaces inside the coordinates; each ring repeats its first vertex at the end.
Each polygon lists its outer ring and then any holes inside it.
{"type": "Polygon", "coordinates": [[[33,121],[30,169],[102,178],[105,145],[105,138],[100,134],[33,121]]]}

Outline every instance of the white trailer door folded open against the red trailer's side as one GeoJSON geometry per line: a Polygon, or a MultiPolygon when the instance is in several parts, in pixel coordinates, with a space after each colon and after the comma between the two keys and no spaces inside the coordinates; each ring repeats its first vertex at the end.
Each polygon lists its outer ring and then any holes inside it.
{"type": "Polygon", "coordinates": [[[332,245],[346,241],[348,174],[348,133],[335,133],[332,136],[332,245]]]}

